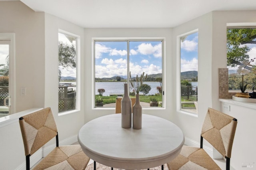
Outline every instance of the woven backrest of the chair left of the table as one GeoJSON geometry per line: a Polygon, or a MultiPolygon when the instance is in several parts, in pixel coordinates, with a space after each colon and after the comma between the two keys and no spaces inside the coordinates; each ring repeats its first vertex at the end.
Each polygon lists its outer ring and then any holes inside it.
{"type": "Polygon", "coordinates": [[[32,155],[58,134],[50,107],[20,117],[25,155],[32,155]]]}

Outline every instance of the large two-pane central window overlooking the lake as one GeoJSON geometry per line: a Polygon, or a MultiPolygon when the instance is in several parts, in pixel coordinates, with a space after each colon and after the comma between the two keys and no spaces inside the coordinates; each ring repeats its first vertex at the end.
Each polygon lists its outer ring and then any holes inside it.
{"type": "MultiPolygon", "coordinates": [[[[115,107],[116,98],[124,94],[124,83],[129,84],[129,72],[132,77],[143,72],[148,75],[139,93],[142,107],[150,107],[150,101],[162,107],[162,40],[97,40],[94,49],[95,107],[115,107]]],[[[130,97],[135,98],[131,85],[129,89],[130,97]]]]}

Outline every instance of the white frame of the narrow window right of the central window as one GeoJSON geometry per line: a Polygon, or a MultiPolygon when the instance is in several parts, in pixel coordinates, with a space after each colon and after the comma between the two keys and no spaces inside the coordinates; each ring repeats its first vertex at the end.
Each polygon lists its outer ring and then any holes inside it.
{"type": "MultiPolygon", "coordinates": [[[[189,36],[191,34],[194,34],[198,32],[198,49],[199,49],[199,29],[195,29],[189,32],[186,32],[184,34],[180,34],[176,37],[176,65],[177,65],[177,73],[176,73],[176,86],[177,86],[177,90],[176,90],[176,111],[179,113],[184,113],[186,115],[190,115],[193,117],[198,117],[198,113],[194,113],[194,112],[190,112],[190,111],[185,111],[182,110],[182,106],[181,106],[181,81],[180,81],[180,73],[181,73],[181,38],[184,36],[189,36]]],[[[199,54],[199,52],[198,52],[199,54]]],[[[199,60],[199,55],[198,55],[198,60],[199,60]]],[[[198,62],[199,65],[199,62],[198,62]]],[[[199,67],[198,67],[199,68],[199,67]]],[[[198,70],[199,72],[199,70],[198,70]]]]}

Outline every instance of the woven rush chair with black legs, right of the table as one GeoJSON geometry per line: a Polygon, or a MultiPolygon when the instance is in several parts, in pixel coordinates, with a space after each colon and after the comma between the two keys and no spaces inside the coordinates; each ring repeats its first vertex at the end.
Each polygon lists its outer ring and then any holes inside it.
{"type": "Polygon", "coordinates": [[[201,132],[200,148],[183,146],[180,154],[167,163],[169,170],[221,170],[203,149],[203,138],[226,158],[226,170],[229,170],[236,125],[237,120],[233,117],[208,108],[201,132]]]}

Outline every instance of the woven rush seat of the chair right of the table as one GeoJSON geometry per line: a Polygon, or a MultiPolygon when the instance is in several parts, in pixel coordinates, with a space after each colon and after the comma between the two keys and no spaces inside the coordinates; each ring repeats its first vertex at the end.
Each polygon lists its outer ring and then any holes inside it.
{"type": "Polygon", "coordinates": [[[221,170],[202,148],[183,146],[180,154],[167,163],[169,170],[221,170]]]}

